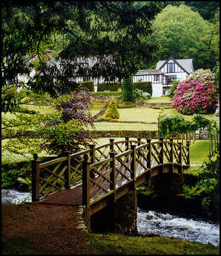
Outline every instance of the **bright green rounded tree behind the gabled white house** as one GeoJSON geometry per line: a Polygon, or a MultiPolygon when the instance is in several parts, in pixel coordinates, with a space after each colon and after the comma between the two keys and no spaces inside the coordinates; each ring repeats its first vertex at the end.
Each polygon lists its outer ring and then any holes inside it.
{"type": "Polygon", "coordinates": [[[166,6],[153,21],[151,38],[159,43],[154,52],[156,60],[194,60],[194,68],[213,68],[215,65],[211,42],[214,24],[206,21],[199,13],[185,4],[166,6]]]}

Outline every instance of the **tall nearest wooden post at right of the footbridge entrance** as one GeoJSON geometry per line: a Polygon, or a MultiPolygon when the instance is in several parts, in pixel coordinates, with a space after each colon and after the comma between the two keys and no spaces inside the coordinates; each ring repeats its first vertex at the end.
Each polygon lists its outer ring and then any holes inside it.
{"type": "Polygon", "coordinates": [[[85,205],[85,217],[88,229],[90,229],[90,161],[88,155],[84,155],[82,164],[82,205],[85,205]]]}

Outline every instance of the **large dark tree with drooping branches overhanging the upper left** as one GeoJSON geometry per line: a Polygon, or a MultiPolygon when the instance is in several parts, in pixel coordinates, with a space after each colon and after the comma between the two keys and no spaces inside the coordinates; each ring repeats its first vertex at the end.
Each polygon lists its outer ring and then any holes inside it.
{"type": "Polygon", "coordinates": [[[161,7],[152,1],[142,7],[131,1],[3,1],[1,84],[4,89],[21,86],[18,74],[29,74],[35,54],[39,72],[27,83],[34,92],[65,94],[76,87],[70,80],[76,76],[128,77],[156,50],[156,44],[142,37],[151,33],[151,20],[161,7]],[[45,47],[57,50],[62,36],[64,44],[56,51],[56,60],[65,65],[61,72],[42,56],[45,47]],[[90,68],[79,63],[88,57],[96,57],[90,68]]]}

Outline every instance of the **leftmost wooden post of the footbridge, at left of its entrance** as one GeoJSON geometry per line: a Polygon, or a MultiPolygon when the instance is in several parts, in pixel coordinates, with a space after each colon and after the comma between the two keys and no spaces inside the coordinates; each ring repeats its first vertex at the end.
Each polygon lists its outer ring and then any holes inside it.
{"type": "Polygon", "coordinates": [[[38,154],[33,154],[32,162],[32,202],[39,200],[39,160],[38,154]]]}

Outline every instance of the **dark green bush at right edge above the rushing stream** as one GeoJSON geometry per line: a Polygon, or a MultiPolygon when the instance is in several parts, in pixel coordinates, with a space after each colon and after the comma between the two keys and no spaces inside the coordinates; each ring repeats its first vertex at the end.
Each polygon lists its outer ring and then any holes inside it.
{"type": "MultiPolygon", "coordinates": [[[[199,168],[200,180],[197,185],[205,189],[205,197],[202,199],[202,210],[212,216],[217,214],[219,204],[214,200],[220,196],[220,150],[217,152],[215,159],[209,159],[199,168]]],[[[218,217],[218,216],[217,216],[218,217]]]]}

